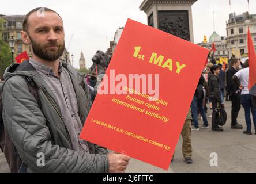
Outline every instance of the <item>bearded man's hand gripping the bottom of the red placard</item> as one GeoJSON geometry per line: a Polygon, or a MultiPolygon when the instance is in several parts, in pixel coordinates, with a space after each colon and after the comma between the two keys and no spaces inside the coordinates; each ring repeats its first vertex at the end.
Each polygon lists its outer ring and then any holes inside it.
{"type": "Polygon", "coordinates": [[[117,154],[111,152],[108,154],[108,162],[110,164],[110,173],[125,173],[126,166],[128,166],[130,156],[117,154]]]}

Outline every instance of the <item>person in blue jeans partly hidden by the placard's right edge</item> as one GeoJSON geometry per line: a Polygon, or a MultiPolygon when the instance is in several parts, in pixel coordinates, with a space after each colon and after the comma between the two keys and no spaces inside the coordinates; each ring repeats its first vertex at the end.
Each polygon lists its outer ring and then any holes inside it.
{"type": "Polygon", "coordinates": [[[204,121],[204,124],[200,128],[209,128],[208,120],[207,120],[204,106],[203,106],[204,94],[206,94],[206,91],[204,93],[204,89],[208,90],[207,88],[204,87],[205,84],[206,84],[206,82],[204,82],[204,77],[201,75],[200,79],[198,81],[197,89],[195,90],[194,97],[193,97],[191,105],[190,105],[192,116],[193,116],[193,126],[191,129],[193,131],[199,130],[198,110],[201,113],[203,121],[204,121]]]}

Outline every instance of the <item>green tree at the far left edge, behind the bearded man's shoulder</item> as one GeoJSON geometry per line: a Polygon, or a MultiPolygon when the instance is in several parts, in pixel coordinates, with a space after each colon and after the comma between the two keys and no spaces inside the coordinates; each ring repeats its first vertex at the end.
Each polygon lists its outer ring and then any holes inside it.
{"type": "Polygon", "coordinates": [[[3,79],[3,72],[12,64],[12,53],[10,47],[5,41],[0,39],[0,79],[3,79]]]}

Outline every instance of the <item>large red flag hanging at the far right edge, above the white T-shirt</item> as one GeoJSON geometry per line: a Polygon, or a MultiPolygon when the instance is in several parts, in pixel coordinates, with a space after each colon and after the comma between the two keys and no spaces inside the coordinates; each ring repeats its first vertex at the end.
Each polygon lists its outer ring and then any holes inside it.
{"type": "Polygon", "coordinates": [[[251,33],[248,28],[248,57],[249,57],[249,83],[248,89],[250,93],[256,96],[256,54],[253,45],[253,39],[251,38],[251,33]]]}

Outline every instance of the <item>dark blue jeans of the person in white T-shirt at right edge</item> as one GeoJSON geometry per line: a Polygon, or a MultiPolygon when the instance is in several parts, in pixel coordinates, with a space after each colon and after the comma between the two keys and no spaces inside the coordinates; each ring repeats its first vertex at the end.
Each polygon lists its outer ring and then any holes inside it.
{"type": "Polygon", "coordinates": [[[251,114],[253,114],[253,124],[256,130],[256,110],[253,109],[253,105],[251,103],[251,94],[242,94],[241,104],[243,105],[244,108],[247,131],[251,131],[251,114]]]}

